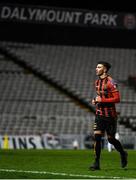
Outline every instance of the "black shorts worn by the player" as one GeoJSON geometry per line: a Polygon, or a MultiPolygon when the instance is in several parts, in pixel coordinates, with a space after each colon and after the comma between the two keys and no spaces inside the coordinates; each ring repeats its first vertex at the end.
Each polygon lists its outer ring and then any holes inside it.
{"type": "Polygon", "coordinates": [[[105,132],[107,135],[115,136],[117,130],[117,117],[96,116],[94,122],[94,131],[105,132]]]}

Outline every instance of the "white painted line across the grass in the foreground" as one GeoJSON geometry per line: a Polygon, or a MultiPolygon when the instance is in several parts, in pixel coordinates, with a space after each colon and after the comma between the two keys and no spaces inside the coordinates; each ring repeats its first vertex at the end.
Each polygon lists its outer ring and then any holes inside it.
{"type": "Polygon", "coordinates": [[[60,176],[70,176],[70,177],[83,177],[83,178],[99,178],[99,179],[129,179],[125,177],[108,177],[108,176],[92,176],[85,174],[68,174],[68,173],[57,173],[48,171],[26,171],[17,169],[0,169],[1,172],[16,172],[16,173],[31,173],[31,174],[50,174],[50,175],[60,175],[60,176]]]}

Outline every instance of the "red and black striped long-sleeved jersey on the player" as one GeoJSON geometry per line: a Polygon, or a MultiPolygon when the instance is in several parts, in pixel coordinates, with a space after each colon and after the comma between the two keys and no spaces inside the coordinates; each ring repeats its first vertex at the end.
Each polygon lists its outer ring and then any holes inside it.
{"type": "Polygon", "coordinates": [[[95,81],[96,93],[101,97],[101,102],[96,103],[96,114],[105,117],[116,117],[115,103],[120,102],[120,94],[117,83],[112,77],[107,76],[104,79],[95,81]]]}

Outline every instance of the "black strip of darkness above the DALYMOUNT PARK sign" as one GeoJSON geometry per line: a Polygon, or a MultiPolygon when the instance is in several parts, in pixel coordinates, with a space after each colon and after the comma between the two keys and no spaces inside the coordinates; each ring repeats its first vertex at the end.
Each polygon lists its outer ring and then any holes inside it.
{"type": "Polygon", "coordinates": [[[111,10],[117,12],[136,12],[135,4],[131,1],[105,1],[105,0],[1,0],[1,3],[45,5],[57,7],[69,7],[91,10],[111,10]]]}

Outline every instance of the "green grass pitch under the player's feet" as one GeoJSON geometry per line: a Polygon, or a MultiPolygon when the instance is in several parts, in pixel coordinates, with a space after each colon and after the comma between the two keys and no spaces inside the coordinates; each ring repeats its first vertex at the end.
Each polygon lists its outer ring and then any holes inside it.
{"type": "Polygon", "coordinates": [[[135,178],[136,151],[128,151],[128,166],[120,167],[116,151],[101,155],[101,170],[89,171],[93,150],[0,150],[1,179],[135,178]]]}

